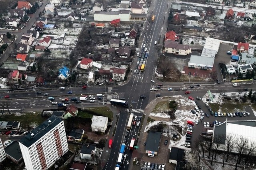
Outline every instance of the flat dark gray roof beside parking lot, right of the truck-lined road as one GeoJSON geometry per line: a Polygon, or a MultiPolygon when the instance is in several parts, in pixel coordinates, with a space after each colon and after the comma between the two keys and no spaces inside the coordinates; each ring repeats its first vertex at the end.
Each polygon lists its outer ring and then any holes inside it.
{"type": "Polygon", "coordinates": [[[145,150],[158,151],[159,143],[161,139],[161,132],[149,131],[147,145],[145,150]]]}

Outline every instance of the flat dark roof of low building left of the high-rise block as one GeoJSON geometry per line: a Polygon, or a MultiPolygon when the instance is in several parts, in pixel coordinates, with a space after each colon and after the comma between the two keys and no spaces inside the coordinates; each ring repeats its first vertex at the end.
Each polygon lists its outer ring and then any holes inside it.
{"type": "Polygon", "coordinates": [[[14,158],[17,161],[22,158],[20,145],[17,141],[12,141],[10,145],[4,148],[4,151],[6,152],[6,154],[8,154],[10,157],[14,158]]]}

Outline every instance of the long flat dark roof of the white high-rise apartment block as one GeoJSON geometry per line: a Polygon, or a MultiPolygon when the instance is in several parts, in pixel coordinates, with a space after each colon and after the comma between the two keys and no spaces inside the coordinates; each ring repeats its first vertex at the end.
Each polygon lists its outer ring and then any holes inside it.
{"type": "Polygon", "coordinates": [[[26,147],[30,147],[62,121],[62,119],[56,117],[55,115],[52,115],[38,127],[33,129],[30,133],[20,139],[19,142],[26,147]]]}

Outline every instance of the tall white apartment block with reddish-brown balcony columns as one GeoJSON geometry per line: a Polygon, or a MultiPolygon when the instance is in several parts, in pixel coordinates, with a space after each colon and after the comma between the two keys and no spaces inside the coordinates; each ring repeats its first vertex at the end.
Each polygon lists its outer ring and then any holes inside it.
{"type": "Polygon", "coordinates": [[[68,152],[62,119],[52,115],[19,141],[27,170],[45,170],[68,152]]]}

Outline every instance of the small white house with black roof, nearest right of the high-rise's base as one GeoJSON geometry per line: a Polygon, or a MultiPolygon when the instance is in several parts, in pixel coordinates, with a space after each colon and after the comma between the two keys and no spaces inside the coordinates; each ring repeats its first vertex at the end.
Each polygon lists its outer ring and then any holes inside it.
{"type": "Polygon", "coordinates": [[[91,160],[97,152],[96,145],[90,143],[84,143],[82,146],[80,156],[81,159],[91,160]]]}

